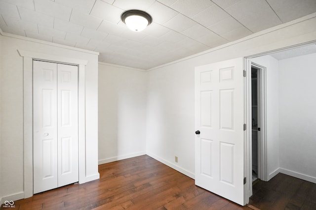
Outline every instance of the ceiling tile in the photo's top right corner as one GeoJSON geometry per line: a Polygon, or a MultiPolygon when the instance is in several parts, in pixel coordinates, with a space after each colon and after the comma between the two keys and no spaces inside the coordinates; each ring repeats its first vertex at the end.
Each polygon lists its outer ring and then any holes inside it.
{"type": "Polygon", "coordinates": [[[283,23],[316,12],[316,0],[267,0],[283,23]]]}

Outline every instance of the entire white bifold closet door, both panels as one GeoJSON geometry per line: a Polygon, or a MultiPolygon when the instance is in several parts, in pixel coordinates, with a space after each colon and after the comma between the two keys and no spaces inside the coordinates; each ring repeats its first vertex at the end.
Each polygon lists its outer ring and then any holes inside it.
{"type": "Polygon", "coordinates": [[[79,180],[78,67],[33,61],[34,193],[79,180]]]}

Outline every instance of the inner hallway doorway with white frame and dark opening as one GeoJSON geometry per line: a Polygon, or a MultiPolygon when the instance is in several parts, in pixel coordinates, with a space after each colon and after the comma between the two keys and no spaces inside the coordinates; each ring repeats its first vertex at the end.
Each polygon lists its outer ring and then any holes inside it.
{"type": "MultiPolygon", "coordinates": [[[[252,195],[252,183],[256,180],[268,180],[267,174],[267,116],[266,116],[266,67],[247,60],[248,88],[248,139],[249,139],[249,195],[252,195]]],[[[249,197],[250,197],[249,196],[249,197]]]]}

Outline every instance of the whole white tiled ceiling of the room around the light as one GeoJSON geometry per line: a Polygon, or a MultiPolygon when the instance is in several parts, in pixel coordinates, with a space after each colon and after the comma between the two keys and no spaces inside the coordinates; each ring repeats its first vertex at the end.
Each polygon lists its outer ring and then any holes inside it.
{"type": "Polygon", "coordinates": [[[314,12],[316,0],[0,0],[0,28],[150,69],[314,12]],[[153,23],[128,30],[120,20],[128,9],[153,23]]]}

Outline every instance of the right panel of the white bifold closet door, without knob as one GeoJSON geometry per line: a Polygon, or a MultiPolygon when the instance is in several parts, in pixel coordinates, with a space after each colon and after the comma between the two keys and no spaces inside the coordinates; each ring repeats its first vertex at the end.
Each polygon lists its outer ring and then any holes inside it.
{"type": "Polygon", "coordinates": [[[79,181],[78,66],[57,64],[58,186],[79,181]]]}

